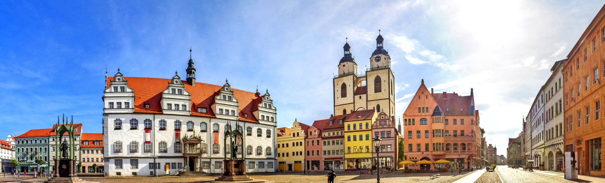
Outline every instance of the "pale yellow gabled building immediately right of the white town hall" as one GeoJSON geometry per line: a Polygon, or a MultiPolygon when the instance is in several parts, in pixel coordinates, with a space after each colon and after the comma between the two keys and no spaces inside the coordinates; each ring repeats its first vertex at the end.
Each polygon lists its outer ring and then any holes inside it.
{"type": "Polygon", "coordinates": [[[277,161],[280,171],[302,171],[304,170],[303,142],[309,125],[294,120],[292,128],[278,128],[277,135],[277,161]]]}

